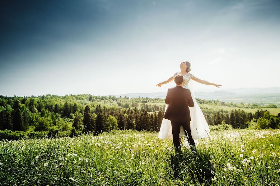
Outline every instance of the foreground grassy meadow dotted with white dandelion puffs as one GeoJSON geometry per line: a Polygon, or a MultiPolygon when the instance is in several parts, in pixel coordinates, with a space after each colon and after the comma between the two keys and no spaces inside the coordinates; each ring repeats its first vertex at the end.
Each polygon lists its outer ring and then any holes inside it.
{"type": "Polygon", "coordinates": [[[198,151],[158,133],[2,140],[1,185],[279,185],[280,130],[212,132],[198,151]]]}

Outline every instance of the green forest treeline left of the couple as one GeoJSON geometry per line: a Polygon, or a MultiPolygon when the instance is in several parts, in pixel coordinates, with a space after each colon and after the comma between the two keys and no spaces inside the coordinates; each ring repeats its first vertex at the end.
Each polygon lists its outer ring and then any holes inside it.
{"type": "Polygon", "coordinates": [[[86,131],[98,134],[112,129],[158,131],[163,118],[161,110],[148,112],[151,108],[158,108],[156,105],[147,107],[143,103],[142,109],[131,109],[117,106],[114,102],[124,102],[128,98],[108,99],[107,96],[91,95],[79,95],[77,98],[0,97],[0,138],[75,136],[86,131]],[[96,98],[104,98],[109,104],[96,104],[96,98]]]}

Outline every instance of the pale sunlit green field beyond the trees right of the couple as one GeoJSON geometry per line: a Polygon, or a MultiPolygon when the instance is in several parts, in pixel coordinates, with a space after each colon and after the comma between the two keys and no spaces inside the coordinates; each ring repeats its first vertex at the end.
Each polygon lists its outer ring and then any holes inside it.
{"type": "MultiPolygon", "coordinates": [[[[217,106],[217,105],[209,105],[209,104],[199,104],[201,109],[213,109],[213,110],[219,110],[219,109],[223,109],[223,110],[232,110],[232,109],[240,109],[240,110],[244,110],[245,112],[251,112],[251,113],[255,113],[257,110],[260,110],[259,108],[238,108],[238,107],[228,107],[228,106],[217,106]]],[[[280,108],[262,108],[263,110],[268,110],[270,113],[277,115],[278,113],[280,113],[280,108]]]]}

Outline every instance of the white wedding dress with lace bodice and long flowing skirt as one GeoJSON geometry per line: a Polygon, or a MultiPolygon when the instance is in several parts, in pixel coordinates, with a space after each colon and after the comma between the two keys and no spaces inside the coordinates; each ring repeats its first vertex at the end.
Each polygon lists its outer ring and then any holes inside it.
{"type": "MultiPolygon", "coordinates": [[[[177,74],[181,74],[181,73],[177,72],[173,75],[173,77],[177,74]]],[[[205,138],[211,137],[210,129],[209,129],[208,123],[206,122],[201,109],[198,106],[198,103],[195,100],[194,93],[188,86],[189,80],[194,76],[191,73],[187,73],[183,77],[184,77],[183,87],[190,90],[193,101],[194,101],[194,107],[189,107],[189,112],[190,112],[190,116],[191,116],[190,128],[191,128],[191,135],[194,139],[195,144],[197,145],[197,142],[199,139],[205,139],[205,138]]],[[[165,112],[166,112],[167,107],[168,107],[168,105],[166,104],[165,112]]],[[[173,139],[170,120],[163,118],[163,120],[161,122],[161,128],[160,128],[158,137],[160,139],[173,139]]],[[[181,126],[181,130],[180,130],[180,137],[186,137],[182,126],[181,126]]],[[[183,145],[189,146],[188,141],[184,140],[183,145]]]]}

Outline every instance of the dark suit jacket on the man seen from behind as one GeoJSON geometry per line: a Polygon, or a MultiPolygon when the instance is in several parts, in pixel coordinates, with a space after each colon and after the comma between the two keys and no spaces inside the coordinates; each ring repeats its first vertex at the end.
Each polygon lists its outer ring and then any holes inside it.
{"type": "Polygon", "coordinates": [[[194,106],[194,101],[189,89],[185,89],[182,86],[169,88],[165,103],[168,104],[168,107],[164,113],[164,118],[170,121],[191,121],[189,107],[194,106]]]}

